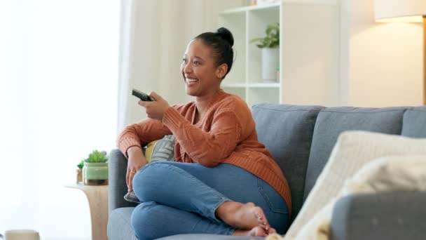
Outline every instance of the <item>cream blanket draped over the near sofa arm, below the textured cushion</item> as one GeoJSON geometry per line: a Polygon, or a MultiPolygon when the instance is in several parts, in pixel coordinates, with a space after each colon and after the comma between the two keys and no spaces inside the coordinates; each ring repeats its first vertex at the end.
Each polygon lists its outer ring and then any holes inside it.
{"type": "Polygon", "coordinates": [[[352,178],[345,180],[338,196],[316,213],[297,236],[282,238],[273,234],[266,239],[329,239],[331,213],[338,199],[350,194],[387,191],[426,191],[426,155],[385,156],[374,159],[352,178]]]}

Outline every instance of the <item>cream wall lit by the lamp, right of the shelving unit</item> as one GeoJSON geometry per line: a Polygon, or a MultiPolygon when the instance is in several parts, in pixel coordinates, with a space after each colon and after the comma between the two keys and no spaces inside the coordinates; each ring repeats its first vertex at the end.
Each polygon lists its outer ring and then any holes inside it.
{"type": "Polygon", "coordinates": [[[340,105],[422,104],[422,26],[376,23],[372,0],[341,0],[340,105]]]}

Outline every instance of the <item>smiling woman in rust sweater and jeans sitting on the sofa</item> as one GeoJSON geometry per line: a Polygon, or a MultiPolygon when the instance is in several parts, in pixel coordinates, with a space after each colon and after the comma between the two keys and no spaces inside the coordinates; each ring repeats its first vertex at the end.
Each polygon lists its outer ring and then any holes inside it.
{"type": "Polygon", "coordinates": [[[170,105],[156,93],[140,101],[148,119],[118,137],[128,157],[129,191],[142,201],[132,213],[138,239],[207,233],[266,236],[284,233],[291,196],[287,180],[257,140],[252,114],[221,90],[233,64],[233,36],[221,27],[187,46],[181,63],[195,101],[170,105]],[[141,147],[173,134],[175,162],[146,164],[141,147]]]}

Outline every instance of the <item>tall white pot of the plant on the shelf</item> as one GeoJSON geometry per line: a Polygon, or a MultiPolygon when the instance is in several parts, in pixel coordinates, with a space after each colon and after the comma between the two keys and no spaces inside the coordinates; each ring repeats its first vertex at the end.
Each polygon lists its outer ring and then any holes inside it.
{"type": "Polygon", "coordinates": [[[280,48],[262,48],[262,79],[277,81],[277,69],[280,65],[280,48]]]}

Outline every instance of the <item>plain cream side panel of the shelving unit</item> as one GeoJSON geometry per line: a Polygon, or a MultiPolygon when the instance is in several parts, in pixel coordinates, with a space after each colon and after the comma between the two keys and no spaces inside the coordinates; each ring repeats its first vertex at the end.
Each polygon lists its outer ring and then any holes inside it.
{"type": "Polygon", "coordinates": [[[282,1],[282,103],[338,105],[339,6],[282,1]]]}

